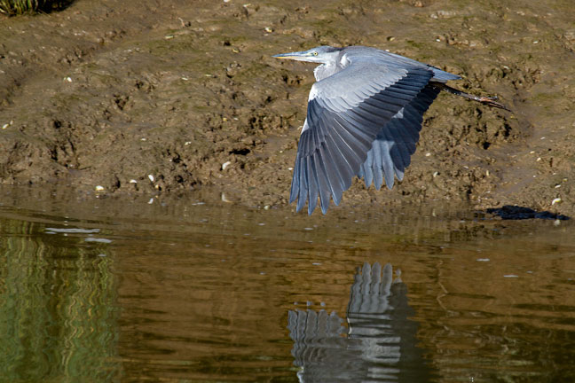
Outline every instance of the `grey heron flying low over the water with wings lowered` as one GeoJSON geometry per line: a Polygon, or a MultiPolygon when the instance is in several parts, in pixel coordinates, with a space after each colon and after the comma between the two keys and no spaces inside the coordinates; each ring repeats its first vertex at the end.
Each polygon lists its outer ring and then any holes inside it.
{"type": "Polygon", "coordinates": [[[507,108],[496,98],[476,97],[445,84],[459,80],[435,66],[364,46],[320,46],[273,56],[320,64],[308,98],[307,117],[297,145],[289,203],[296,211],[308,202],[327,213],[354,176],[379,190],[393,187],[419,140],[423,113],[441,90],[489,106],[507,108]]]}

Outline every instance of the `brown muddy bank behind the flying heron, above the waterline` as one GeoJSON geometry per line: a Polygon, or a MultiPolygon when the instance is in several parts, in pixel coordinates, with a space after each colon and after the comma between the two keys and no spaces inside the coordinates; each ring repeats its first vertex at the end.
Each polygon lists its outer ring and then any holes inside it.
{"type": "Polygon", "coordinates": [[[270,56],[363,44],[460,74],[453,86],[498,95],[513,113],[440,95],[404,181],[358,181],[343,208],[451,200],[574,215],[569,1],[325,3],[79,0],[0,19],[0,182],[209,186],[285,205],[313,66],[270,56]]]}

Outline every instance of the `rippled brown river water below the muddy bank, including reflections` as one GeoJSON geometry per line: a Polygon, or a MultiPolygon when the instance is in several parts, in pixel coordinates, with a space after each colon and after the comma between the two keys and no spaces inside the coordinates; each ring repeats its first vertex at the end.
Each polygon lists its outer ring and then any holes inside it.
{"type": "Polygon", "coordinates": [[[575,379],[572,221],[9,189],[0,233],[3,382],[575,379]]]}

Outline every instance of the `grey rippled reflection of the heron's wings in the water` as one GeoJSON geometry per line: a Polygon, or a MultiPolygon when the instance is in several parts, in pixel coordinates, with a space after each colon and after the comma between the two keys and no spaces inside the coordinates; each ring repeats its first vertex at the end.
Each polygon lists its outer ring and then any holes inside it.
{"type": "Polygon", "coordinates": [[[426,382],[434,374],[417,347],[418,324],[407,319],[406,284],[391,265],[357,270],[343,318],[326,310],[289,310],[292,355],[301,382],[426,382]]]}

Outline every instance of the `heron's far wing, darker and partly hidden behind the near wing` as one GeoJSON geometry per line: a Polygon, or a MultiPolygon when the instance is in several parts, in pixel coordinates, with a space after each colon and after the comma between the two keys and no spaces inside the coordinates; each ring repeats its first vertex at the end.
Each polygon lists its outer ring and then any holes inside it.
{"type": "Polygon", "coordinates": [[[415,145],[419,140],[423,113],[425,113],[441,90],[433,85],[426,86],[415,98],[386,123],[375,137],[367,159],[359,169],[366,187],[372,182],[379,190],[383,180],[388,188],[394,184],[394,173],[403,180],[404,171],[411,162],[415,145]]]}

